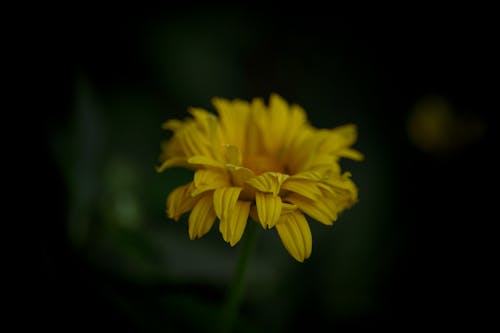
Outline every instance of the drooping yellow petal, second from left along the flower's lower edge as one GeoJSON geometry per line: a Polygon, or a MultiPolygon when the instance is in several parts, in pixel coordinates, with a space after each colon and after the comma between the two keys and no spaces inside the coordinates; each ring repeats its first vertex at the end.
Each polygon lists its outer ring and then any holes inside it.
{"type": "Polygon", "coordinates": [[[205,235],[215,221],[212,193],[203,195],[189,215],[189,239],[205,235]]]}

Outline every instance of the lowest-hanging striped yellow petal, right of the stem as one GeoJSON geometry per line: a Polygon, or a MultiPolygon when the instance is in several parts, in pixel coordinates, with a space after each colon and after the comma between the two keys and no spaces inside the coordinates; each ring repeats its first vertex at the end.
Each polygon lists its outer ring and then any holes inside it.
{"type": "Polygon", "coordinates": [[[300,212],[283,215],[276,224],[278,235],[295,260],[304,262],[312,252],[312,235],[306,218],[300,212]]]}

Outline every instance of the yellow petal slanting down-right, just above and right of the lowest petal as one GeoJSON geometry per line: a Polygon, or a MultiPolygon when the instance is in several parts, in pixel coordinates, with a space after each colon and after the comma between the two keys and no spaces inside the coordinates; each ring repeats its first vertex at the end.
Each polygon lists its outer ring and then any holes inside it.
{"type": "Polygon", "coordinates": [[[333,221],[337,219],[337,208],[334,202],[323,196],[312,200],[296,193],[290,193],[287,195],[286,201],[296,205],[302,212],[323,224],[332,225],[333,221]]]}

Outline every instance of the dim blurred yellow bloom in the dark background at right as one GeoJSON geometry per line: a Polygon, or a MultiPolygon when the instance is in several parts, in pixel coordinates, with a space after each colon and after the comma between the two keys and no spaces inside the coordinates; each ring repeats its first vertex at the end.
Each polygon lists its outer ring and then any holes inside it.
{"type": "Polygon", "coordinates": [[[456,152],[484,135],[486,125],[472,114],[456,114],[440,96],[419,100],[408,118],[408,136],[420,150],[433,154],[456,152]]]}

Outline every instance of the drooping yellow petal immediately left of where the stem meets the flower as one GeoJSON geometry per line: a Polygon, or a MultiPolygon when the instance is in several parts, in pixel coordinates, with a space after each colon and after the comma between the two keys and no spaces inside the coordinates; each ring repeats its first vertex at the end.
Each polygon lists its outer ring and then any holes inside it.
{"type": "Polygon", "coordinates": [[[237,201],[230,215],[220,221],[219,231],[222,233],[222,238],[231,246],[240,241],[245,231],[250,205],[249,201],[237,201]]]}

